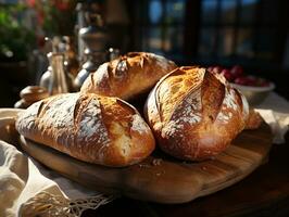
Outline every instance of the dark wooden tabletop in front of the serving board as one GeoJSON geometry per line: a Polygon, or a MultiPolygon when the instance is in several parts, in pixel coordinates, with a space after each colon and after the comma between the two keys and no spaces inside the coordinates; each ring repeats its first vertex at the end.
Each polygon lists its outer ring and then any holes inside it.
{"type": "Polygon", "coordinates": [[[153,217],[288,217],[289,132],[285,144],[274,144],[269,159],[242,181],[209,196],[179,205],[162,205],[121,197],[83,216],[153,217]]]}

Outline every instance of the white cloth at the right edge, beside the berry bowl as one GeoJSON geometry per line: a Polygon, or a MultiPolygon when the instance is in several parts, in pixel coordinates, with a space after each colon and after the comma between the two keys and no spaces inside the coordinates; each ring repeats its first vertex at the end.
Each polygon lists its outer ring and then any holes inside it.
{"type": "Polygon", "coordinates": [[[284,136],[289,129],[289,102],[277,93],[271,92],[255,108],[271,126],[274,135],[273,142],[284,143],[284,136]]]}

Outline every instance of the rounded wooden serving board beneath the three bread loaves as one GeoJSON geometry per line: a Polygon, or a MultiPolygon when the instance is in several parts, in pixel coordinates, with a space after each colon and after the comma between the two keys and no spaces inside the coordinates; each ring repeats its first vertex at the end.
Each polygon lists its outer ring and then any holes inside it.
{"type": "Polygon", "coordinates": [[[185,203],[236,183],[266,161],[271,129],[246,130],[214,159],[189,163],[155,151],[140,164],[109,168],[80,162],[21,137],[22,149],[63,176],[103,193],[159,203],[185,203]]]}

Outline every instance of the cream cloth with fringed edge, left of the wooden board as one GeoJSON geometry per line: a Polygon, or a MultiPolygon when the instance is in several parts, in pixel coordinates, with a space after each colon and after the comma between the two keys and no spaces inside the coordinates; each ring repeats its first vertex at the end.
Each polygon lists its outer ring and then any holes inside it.
{"type": "MultiPolygon", "coordinates": [[[[14,123],[16,112],[0,108],[0,130],[14,123]]],[[[0,217],[80,216],[113,199],[63,178],[0,140],[0,217]]]]}

